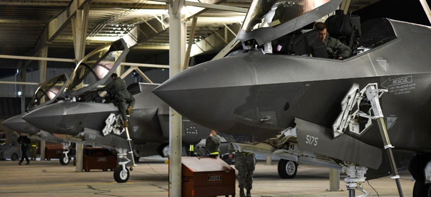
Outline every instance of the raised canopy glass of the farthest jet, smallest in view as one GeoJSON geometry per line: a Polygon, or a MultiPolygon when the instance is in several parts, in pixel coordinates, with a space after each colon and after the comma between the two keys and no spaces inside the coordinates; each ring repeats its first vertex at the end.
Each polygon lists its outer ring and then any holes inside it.
{"type": "Polygon", "coordinates": [[[30,104],[27,109],[33,110],[37,106],[52,102],[63,92],[67,80],[68,77],[66,74],[60,74],[42,83],[33,95],[33,98],[30,100],[30,104]]]}

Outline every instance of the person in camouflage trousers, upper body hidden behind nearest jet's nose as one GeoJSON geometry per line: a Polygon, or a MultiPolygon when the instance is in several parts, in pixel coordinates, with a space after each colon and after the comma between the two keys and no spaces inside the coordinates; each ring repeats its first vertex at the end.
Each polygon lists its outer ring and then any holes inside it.
{"type": "Polygon", "coordinates": [[[251,152],[240,152],[229,144],[229,158],[234,158],[235,168],[238,170],[238,187],[240,187],[240,197],[245,197],[244,188],[247,189],[247,197],[251,197],[253,186],[253,171],[255,170],[255,154],[251,152]]]}

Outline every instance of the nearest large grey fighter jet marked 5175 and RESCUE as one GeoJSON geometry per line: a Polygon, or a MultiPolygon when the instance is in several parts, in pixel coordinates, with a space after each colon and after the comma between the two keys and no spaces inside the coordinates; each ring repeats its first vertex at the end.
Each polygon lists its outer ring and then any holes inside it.
{"type": "Polygon", "coordinates": [[[388,18],[341,23],[353,53],[328,58],[306,26],[340,3],[254,0],[237,36],[244,49],[153,92],[191,121],[230,134],[238,149],[281,158],[280,175],[293,177],[298,161],[343,169],[354,194],[365,178],[393,172],[397,180],[409,165],[413,195],[429,195],[431,27],[388,18]]]}

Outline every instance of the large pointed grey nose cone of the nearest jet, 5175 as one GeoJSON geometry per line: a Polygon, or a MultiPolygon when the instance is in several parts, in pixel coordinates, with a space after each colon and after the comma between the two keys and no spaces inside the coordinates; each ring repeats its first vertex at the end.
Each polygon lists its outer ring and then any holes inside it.
{"type": "Polygon", "coordinates": [[[227,130],[235,123],[235,109],[254,84],[253,69],[242,58],[229,57],[186,69],[152,92],[200,125],[227,130]]]}

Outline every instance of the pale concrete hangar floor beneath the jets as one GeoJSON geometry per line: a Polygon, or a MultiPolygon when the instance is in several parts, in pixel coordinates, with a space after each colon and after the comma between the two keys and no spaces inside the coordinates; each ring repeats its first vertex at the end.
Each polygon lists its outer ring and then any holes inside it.
{"type": "MultiPolygon", "coordinates": [[[[344,175],[340,178],[342,191],[326,191],[329,169],[308,164],[298,166],[293,179],[281,179],[277,162],[265,165],[259,160],[254,173],[252,196],[348,196],[344,175]]],[[[404,196],[411,196],[413,181],[408,171],[400,172],[404,196]]],[[[398,196],[395,181],[389,177],[369,180],[379,196],[398,196]]],[[[238,181],[237,181],[238,185],[238,181]]],[[[367,182],[364,189],[377,196],[367,182]]],[[[356,195],[360,195],[356,190],[356,195]]],[[[168,164],[162,158],[141,158],[130,172],[126,183],[117,183],[112,171],[91,170],[75,172],[72,164],[61,165],[59,160],[0,161],[0,196],[168,196],[168,164]],[[24,164],[24,163],[23,163],[24,164]]],[[[237,187],[237,196],[239,190],[237,187]]]]}

